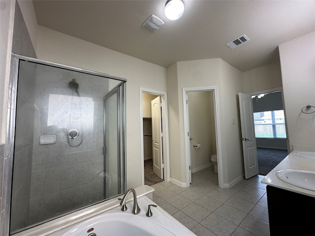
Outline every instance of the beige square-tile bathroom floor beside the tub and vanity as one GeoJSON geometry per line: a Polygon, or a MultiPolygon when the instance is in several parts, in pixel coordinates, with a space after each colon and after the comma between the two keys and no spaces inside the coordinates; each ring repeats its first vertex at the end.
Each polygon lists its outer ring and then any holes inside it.
{"type": "Polygon", "coordinates": [[[213,167],[192,174],[189,187],[152,185],[153,201],[197,236],[269,236],[264,176],[220,188],[213,167]]]}

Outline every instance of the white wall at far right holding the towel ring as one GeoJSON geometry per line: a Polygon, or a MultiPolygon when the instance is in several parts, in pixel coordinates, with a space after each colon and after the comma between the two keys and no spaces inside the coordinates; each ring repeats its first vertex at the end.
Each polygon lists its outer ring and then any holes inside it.
{"type": "Polygon", "coordinates": [[[289,151],[315,146],[315,113],[301,112],[315,106],[315,31],[279,45],[279,52],[289,151]]]}

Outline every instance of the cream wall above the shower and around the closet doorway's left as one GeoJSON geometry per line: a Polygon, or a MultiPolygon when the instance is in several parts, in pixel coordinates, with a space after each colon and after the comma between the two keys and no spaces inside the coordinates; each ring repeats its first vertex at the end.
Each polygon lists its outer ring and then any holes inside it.
{"type": "MultiPolygon", "coordinates": [[[[141,185],[139,88],[166,91],[164,67],[39,26],[38,59],[80,67],[127,79],[127,188],[141,185]]],[[[141,118],[142,119],[142,118],[141,118]]]]}

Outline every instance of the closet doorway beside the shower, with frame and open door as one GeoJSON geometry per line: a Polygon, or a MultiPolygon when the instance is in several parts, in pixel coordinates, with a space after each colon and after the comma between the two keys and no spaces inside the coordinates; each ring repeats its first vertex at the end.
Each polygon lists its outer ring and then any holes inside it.
{"type": "Polygon", "coordinates": [[[169,181],[166,93],[140,88],[142,185],[169,181]]]}

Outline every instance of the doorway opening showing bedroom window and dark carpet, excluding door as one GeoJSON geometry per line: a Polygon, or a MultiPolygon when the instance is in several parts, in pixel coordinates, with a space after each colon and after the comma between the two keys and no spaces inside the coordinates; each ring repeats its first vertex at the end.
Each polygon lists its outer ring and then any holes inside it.
{"type": "Polygon", "coordinates": [[[252,94],[258,172],[266,176],[287,156],[282,90],[252,94]]]}

